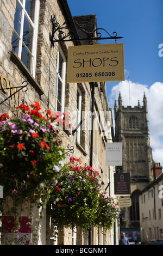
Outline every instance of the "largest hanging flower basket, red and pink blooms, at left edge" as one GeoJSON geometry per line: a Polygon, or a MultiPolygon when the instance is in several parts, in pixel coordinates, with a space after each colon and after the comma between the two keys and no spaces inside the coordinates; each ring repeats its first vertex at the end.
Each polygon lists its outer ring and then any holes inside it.
{"type": "Polygon", "coordinates": [[[30,107],[18,106],[20,117],[0,117],[0,181],[4,198],[17,204],[35,202],[64,169],[64,149],[51,112],[45,118],[38,102],[30,107]]]}

